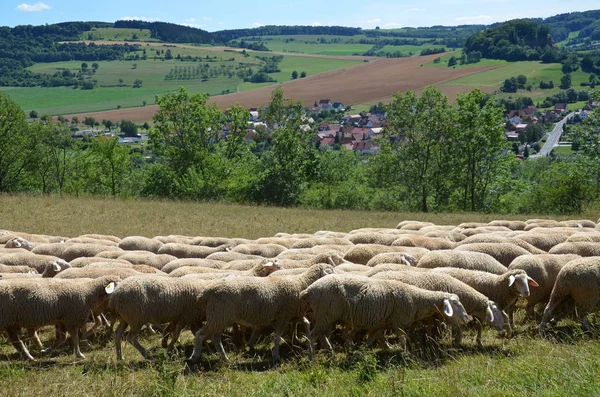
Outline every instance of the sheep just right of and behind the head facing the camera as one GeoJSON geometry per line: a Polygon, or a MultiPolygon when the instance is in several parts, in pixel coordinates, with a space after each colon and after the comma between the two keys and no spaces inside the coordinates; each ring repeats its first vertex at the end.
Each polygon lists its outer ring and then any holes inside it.
{"type": "MultiPolygon", "coordinates": [[[[537,281],[539,287],[531,290],[527,297],[525,312],[529,318],[535,318],[535,306],[548,303],[552,288],[560,269],[568,262],[579,259],[579,255],[532,255],[516,258],[508,267],[509,270],[524,270],[529,277],[537,281]]],[[[507,310],[510,324],[514,327],[514,306],[507,310]]]]}

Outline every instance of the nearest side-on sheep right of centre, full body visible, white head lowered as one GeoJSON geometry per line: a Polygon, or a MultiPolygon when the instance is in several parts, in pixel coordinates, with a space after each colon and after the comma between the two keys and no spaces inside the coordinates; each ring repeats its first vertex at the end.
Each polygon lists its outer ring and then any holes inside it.
{"type": "MultiPolygon", "coordinates": [[[[317,339],[332,352],[326,334],[337,323],[352,331],[369,331],[369,342],[384,329],[405,330],[439,310],[464,323],[468,315],[457,295],[427,291],[399,281],[335,274],[315,281],[300,293],[304,310],[310,309],[313,327],[309,333],[309,358],[314,359],[317,339]]],[[[403,340],[404,349],[406,343],[403,340]]],[[[384,345],[385,347],[385,345],[384,345]]]]}

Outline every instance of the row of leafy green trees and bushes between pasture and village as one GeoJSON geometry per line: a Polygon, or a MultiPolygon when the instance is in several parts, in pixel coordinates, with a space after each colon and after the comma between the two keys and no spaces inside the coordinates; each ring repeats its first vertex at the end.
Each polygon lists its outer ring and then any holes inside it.
{"type": "Polygon", "coordinates": [[[259,128],[253,144],[247,110],[224,113],[207,99],[183,88],[158,97],[148,147],[130,149],[27,122],[0,94],[0,192],[497,213],[578,213],[600,192],[600,112],[578,127],[584,154],[518,161],[502,106],[474,90],[454,107],[428,87],[393,97],[380,150],[363,156],[319,147],[304,106],[281,88],[260,112],[273,128],[259,128]]]}

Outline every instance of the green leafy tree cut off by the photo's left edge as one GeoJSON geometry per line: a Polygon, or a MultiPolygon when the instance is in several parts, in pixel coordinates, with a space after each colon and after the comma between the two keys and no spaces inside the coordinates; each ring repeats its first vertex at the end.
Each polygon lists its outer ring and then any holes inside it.
{"type": "Polygon", "coordinates": [[[0,192],[17,190],[37,146],[21,108],[0,91],[0,192]]]}

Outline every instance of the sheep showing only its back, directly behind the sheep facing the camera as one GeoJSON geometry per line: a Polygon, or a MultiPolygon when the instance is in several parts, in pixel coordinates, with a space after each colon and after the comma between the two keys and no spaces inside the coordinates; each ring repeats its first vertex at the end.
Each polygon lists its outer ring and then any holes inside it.
{"type": "Polygon", "coordinates": [[[471,251],[433,251],[424,255],[417,267],[433,269],[437,267],[454,267],[460,269],[480,270],[493,274],[503,274],[508,268],[488,254],[471,251]]]}

